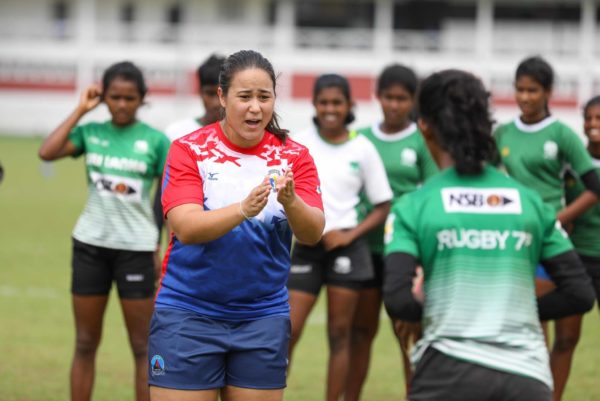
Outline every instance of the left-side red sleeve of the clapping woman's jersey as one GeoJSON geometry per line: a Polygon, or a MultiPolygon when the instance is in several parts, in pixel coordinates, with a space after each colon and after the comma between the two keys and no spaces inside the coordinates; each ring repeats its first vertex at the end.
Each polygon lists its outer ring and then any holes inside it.
{"type": "Polygon", "coordinates": [[[169,210],[185,203],[204,204],[202,177],[191,150],[175,141],[169,149],[163,173],[162,205],[165,217],[169,210]]]}

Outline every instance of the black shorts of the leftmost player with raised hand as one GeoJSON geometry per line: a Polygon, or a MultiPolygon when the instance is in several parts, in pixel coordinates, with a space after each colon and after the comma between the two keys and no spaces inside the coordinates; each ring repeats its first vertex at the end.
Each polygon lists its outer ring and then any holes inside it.
{"type": "Polygon", "coordinates": [[[121,298],[151,298],[154,295],[153,254],[103,248],[73,238],[71,292],[108,295],[116,281],[121,298]]]}

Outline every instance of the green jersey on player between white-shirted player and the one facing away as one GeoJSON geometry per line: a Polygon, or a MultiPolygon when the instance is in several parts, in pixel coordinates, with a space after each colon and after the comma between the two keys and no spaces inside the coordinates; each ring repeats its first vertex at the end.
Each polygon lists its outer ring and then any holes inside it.
{"type": "MultiPolygon", "coordinates": [[[[438,168],[415,123],[394,134],[382,132],[379,126],[379,123],[373,124],[371,127],[359,129],[358,132],[375,145],[381,156],[395,201],[405,193],[417,189],[426,179],[436,174],[438,168]]],[[[373,205],[362,194],[359,204],[361,220],[371,210],[373,205]]],[[[367,234],[373,253],[383,253],[383,228],[382,224],[367,234]]]]}

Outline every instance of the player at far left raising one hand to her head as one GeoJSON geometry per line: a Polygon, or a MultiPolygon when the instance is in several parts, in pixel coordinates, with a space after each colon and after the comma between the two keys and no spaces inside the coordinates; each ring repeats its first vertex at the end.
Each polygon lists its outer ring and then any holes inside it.
{"type": "Polygon", "coordinates": [[[135,359],[136,400],[149,399],[146,353],[158,239],[150,190],[162,176],[170,142],[137,120],[145,94],[144,77],[135,65],[114,64],[104,72],[102,87],[88,86],[75,110],[39,150],[48,161],[85,154],[88,201],[73,231],[72,401],[91,398],[102,318],[113,281],[135,359]],[[77,125],[100,103],[107,105],[110,121],[77,125]]]}

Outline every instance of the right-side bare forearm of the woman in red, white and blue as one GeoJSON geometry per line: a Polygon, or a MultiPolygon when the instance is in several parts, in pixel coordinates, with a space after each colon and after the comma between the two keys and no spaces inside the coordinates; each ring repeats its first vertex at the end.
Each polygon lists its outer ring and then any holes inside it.
{"type": "Polygon", "coordinates": [[[298,241],[314,245],[321,239],[325,228],[325,216],[321,209],[307,205],[296,195],[294,202],[284,206],[288,224],[298,241]]]}

